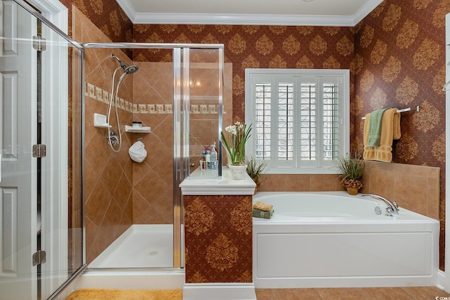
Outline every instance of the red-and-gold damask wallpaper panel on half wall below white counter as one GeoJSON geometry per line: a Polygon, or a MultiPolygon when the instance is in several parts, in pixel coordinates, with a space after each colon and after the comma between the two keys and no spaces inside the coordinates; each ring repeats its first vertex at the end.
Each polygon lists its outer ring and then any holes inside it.
{"type": "Polygon", "coordinates": [[[184,196],[186,282],[252,282],[252,196],[184,196]]]}

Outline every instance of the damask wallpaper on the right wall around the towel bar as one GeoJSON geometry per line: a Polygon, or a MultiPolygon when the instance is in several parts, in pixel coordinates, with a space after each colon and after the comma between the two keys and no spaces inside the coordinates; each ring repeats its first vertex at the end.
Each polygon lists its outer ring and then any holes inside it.
{"type": "Polygon", "coordinates": [[[385,0],[355,27],[355,138],[362,149],[366,113],[411,107],[401,113],[393,162],[440,167],[440,268],[445,228],[445,15],[449,0],[385,0]],[[415,107],[420,106],[420,112],[415,107]]]}

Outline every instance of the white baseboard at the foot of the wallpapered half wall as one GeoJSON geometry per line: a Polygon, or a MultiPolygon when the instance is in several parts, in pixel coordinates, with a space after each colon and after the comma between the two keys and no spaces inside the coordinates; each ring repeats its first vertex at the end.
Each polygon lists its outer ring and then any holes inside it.
{"type": "Polygon", "coordinates": [[[183,300],[256,300],[252,283],[186,283],[183,300]]]}

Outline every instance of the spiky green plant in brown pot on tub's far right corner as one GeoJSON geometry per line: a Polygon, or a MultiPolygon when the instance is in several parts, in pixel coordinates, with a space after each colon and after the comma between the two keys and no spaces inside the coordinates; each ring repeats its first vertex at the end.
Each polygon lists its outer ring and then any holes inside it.
{"type": "Polygon", "coordinates": [[[350,195],[356,195],[358,190],[364,185],[362,178],[366,165],[364,164],[364,160],[361,159],[361,155],[338,157],[335,165],[341,173],[341,184],[347,189],[350,195]]]}

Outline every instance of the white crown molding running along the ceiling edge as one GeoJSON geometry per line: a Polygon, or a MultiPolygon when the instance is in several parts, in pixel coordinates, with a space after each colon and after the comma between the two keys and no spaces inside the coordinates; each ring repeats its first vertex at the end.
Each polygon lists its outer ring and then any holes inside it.
{"type": "Polygon", "coordinates": [[[283,25],[354,27],[383,0],[370,0],[354,15],[255,15],[206,13],[136,13],[128,0],[116,0],[133,24],[283,25]]]}

